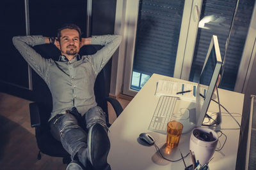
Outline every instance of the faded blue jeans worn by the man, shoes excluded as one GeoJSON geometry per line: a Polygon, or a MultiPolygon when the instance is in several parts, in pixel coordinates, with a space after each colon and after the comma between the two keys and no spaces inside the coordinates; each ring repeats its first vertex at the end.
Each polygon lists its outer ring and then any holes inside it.
{"type": "Polygon", "coordinates": [[[83,117],[76,112],[74,114],[74,111],[70,111],[63,115],[56,115],[50,121],[52,136],[61,141],[63,148],[70,153],[72,160],[80,148],[87,147],[87,131],[90,126],[97,122],[106,129],[108,128],[106,113],[99,106],[88,110],[83,117]]]}

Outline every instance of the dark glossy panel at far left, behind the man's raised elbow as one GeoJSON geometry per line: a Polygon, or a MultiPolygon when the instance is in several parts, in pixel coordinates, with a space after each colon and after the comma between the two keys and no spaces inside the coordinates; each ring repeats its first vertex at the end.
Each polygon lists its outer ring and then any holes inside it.
{"type": "Polygon", "coordinates": [[[24,0],[3,0],[0,9],[0,81],[28,88],[28,64],[12,43],[13,36],[26,35],[24,0]]]}

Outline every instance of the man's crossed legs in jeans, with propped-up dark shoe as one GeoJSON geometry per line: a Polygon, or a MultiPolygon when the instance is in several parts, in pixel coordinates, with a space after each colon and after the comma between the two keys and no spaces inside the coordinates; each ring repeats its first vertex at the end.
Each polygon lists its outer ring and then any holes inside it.
{"type": "Polygon", "coordinates": [[[63,148],[71,155],[72,163],[67,169],[111,169],[107,162],[110,142],[106,114],[100,107],[91,108],[83,118],[73,108],[65,115],[52,118],[50,125],[54,138],[61,141],[63,148]],[[79,167],[80,163],[83,166],[79,167]]]}

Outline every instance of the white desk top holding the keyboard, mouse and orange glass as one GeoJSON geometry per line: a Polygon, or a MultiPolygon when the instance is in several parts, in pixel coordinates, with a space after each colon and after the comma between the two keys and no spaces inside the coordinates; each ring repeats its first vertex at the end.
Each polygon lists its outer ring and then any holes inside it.
{"type": "MultiPolygon", "coordinates": [[[[179,162],[168,162],[161,159],[156,153],[154,146],[143,146],[138,142],[138,136],[141,132],[150,133],[156,140],[156,145],[161,148],[166,141],[166,135],[156,132],[148,131],[148,125],[154,110],[157,105],[159,97],[154,96],[156,90],[156,83],[158,80],[177,80],[159,74],[153,74],[150,80],[132,99],[131,103],[125,108],[120,117],[109,128],[109,139],[111,148],[109,151],[108,162],[112,170],[141,170],[141,169],[184,169],[184,164],[179,162]]],[[[230,92],[228,90],[219,90],[220,103],[227,108],[230,113],[242,114],[244,95],[237,92],[230,92]]],[[[211,103],[209,111],[217,110],[217,105],[211,103]]],[[[225,112],[221,109],[221,111],[225,112]]],[[[214,158],[209,164],[211,170],[214,169],[236,169],[236,157],[239,141],[239,129],[236,122],[228,116],[224,116],[221,128],[232,128],[232,130],[222,130],[227,135],[227,142],[219,152],[214,153],[214,158]]],[[[236,117],[237,121],[241,123],[241,117],[236,117]]],[[[190,133],[182,134],[178,148],[172,151],[169,159],[180,159],[181,150],[183,155],[189,152],[189,138],[190,133]]],[[[224,138],[223,138],[224,140],[224,138]]],[[[223,144],[221,140],[221,144],[223,144]]],[[[186,165],[191,164],[190,156],[185,159],[186,165]]]]}

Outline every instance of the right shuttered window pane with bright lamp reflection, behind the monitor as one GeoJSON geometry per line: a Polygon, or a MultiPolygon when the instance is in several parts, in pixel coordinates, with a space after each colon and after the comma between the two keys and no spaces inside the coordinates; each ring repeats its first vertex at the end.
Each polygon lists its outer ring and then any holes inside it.
{"type": "MultiPolygon", "coordinates": [[[[223,59],[236,2],[236,0],[204,1],[193,64],[189,76],[190,81],[198,81],[212,35],[218,36],[221,57],[223,59]]],[[[228,44],[224,74],[220,84],[220,87],[223,89],[234,90],[254,3],[254,0],[239,1],[234,27],[228,44]]]]}

